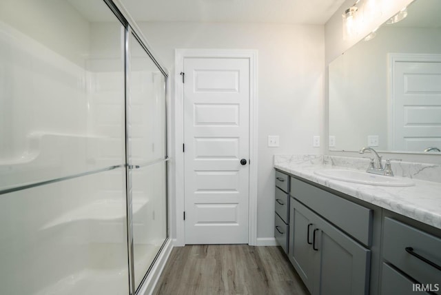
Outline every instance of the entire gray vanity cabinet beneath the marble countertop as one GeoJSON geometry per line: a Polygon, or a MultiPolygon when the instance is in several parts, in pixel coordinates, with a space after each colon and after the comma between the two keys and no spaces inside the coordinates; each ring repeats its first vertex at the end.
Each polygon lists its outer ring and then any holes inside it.
{"type": "Polygon", "coordinates": [[[440,228],[300,176],[276,177],[276,230],[289,230],[276,239],[311,294],[441,295],[440,228]]]}

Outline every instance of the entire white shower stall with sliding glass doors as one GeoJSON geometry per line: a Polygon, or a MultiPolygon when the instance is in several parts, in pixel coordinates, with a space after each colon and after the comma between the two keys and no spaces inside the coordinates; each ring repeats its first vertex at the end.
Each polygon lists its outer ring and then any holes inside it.
{"type": "Polygon", "coordinates": [[[118,7],[0,3],[0,294],[135,294],[168,239],[167,72],[118,7]]]}

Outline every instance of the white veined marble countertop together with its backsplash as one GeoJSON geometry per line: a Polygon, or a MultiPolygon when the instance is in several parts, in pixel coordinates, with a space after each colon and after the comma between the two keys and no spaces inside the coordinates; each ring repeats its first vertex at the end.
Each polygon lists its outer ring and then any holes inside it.
{"type": "Polygon", "coordinates": [[[369,159],[320,156],[275,155],[274,167],[356,199],[402,214],[441,229],[441,167],[426,163],[393,162],[397,176],[413,179],[409,187],[388,187],[337,181],[317,175],[316,170],[348,168],[365,171],[369,159]]]}

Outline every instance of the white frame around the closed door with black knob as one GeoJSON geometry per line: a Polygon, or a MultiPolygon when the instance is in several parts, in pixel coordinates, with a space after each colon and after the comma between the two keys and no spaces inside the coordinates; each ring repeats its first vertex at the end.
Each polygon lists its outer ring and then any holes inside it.
{"type": "Polygon", "coordinates": [[[183,72],[185,58],[249,59],[249,222],[248,244],[257,245],[257,50],[176,49],[174,54],[174,129],[176,165],[176,241],[185,245],[184,204],[184,103],[183,72]]]}

